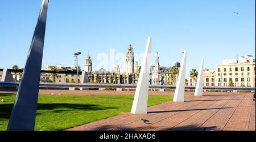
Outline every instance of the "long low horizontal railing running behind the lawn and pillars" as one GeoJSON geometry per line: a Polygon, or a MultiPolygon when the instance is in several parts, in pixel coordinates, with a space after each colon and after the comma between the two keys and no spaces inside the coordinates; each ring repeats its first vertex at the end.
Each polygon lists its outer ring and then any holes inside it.
{"type": "MultiPolygon", "coordinates": [[[[18,88],[18,82],[0,82],[0,88],[18,88]]],[[[75,83],[40,83],[40,89],[69,89],[69,88],[119,88],[136,89],[137,84],[75,84],[75,83]]],[[[175,85],[149,85],[148,89],[175,89],[175,85]]],[[[195,90],[195,86],[185,86],[186,90],[195,90]]],[[[214,91],[255,91],[255,87],[215,87],[204,86],[204,90],[214,91]]]]}

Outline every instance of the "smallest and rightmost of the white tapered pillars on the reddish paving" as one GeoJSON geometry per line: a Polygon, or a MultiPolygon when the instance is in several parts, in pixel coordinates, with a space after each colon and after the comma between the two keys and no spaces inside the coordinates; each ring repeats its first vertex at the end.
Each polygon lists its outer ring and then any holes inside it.
{"type": "Polygon", "coordinates": [[[199,75],[196,83],[195,96],[203,96],[203,82],[204,82],[204,58],[202,58],[199,75]]]}

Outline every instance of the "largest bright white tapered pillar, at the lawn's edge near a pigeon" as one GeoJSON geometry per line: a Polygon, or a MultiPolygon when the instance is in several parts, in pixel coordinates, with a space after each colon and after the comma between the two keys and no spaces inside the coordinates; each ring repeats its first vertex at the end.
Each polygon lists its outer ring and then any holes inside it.
{"type": "Polygon", "coordinates": [[[151,37],[147,38],[146,50],[143,57],[141,72],[139,74],[138,84],[134,95],[131,113],[146,114],[148,98],[148,76],[150,72],[150,55],[151,55],[151,37]]]}

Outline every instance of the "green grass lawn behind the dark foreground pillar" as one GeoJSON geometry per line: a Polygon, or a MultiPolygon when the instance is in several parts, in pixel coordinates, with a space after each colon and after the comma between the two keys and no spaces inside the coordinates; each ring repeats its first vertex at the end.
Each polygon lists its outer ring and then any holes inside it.
{"type": "MultiPolygon", "coordinates": [[[[0,102],[0,131],[9,122],[15,94],[0,94],[6,103],[0,102]]],[[[39,95],[35,130],[65,130],[82,124],[113,117],[131,110],[134,96],[104,95],[39,95]]],[[[148,96],[148,106],[172,101],[172,96],[148,96]]]]}

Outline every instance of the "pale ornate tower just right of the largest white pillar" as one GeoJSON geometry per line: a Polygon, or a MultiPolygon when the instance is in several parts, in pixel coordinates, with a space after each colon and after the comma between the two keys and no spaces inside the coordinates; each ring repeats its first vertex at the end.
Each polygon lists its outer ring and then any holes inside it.
{"type": "Polygon", "coordinates": [[[152,71],[152,83],[153,84],[159,85],[159,81],[160,81],[159,73],[160,73],[159,55],[158,55],[158,52],[156,51],[155,64],[154,64],[153,71],[152,71]]]}

